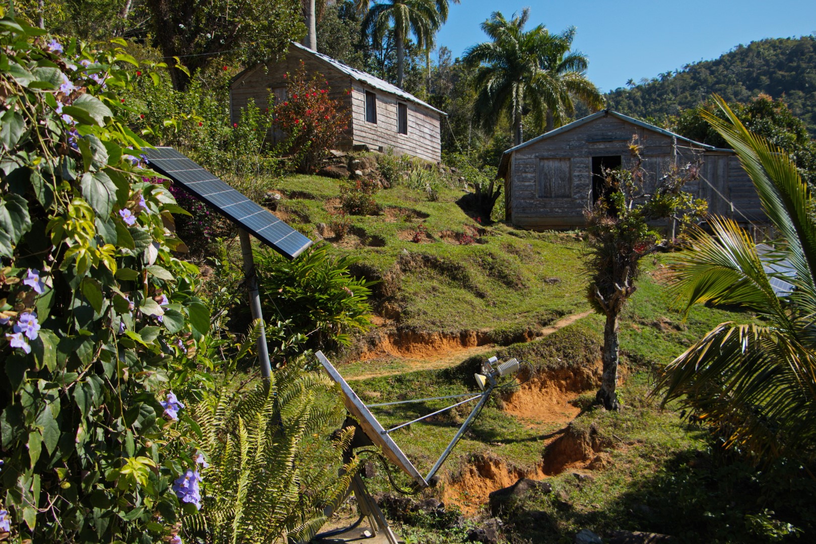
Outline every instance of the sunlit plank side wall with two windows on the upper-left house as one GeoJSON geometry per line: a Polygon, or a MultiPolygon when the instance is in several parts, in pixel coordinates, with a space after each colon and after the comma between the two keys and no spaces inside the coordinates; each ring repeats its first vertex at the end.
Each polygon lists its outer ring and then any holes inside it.
{"type": "Polygon", "coordinates": [[[354,144],[366,144],[372,151],[379,148],[385,151],[391,147],[397,153],[407,153],[427,161],[441,159],[438,113],[357,81],[352,85],[352,111],[354,144]],[[366,121],[366,91],[377,95],[376,123],[366,121]],[[398,103],[407,106],[408,134],[397,132],[398,103]]]}

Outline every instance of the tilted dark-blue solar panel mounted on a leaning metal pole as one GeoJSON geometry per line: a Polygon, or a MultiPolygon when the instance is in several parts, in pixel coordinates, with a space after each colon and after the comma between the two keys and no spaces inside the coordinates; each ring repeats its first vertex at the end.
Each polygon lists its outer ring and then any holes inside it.
{"type": "Polygon", "coordinates": [[[269,210],[258,206],[174,148],[143,148],[142,153],[151,169],[180,184],[193,197],[251,232],[284,257],[295,259],[313,244],[269,210]]]}

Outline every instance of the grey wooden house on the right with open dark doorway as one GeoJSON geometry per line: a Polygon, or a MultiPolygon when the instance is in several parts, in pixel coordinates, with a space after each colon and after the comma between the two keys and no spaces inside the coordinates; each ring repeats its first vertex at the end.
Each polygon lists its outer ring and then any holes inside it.
{"type": "Polygon", "coordinates": [[[505,182],[506,219],[523,228],[583,227],[583,210],[604,189],[603,169],[632,164],[633,135],[643,147],[645,192],[654,190],[672,163],[700,160],[699,179],[685,190],[705,199],[712,214],[743,224],[763,221],[759,197],[733,150],[700,144],[609,109],[504,152],[499,177],[505,182]]]}

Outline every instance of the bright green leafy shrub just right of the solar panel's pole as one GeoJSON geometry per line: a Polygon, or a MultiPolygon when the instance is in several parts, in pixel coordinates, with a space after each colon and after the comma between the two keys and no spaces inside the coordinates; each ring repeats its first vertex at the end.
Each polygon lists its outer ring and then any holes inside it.
{"type": "Polygon", "coordinates": [[[264,315],[291,320],[295,332],[310,337],[313,346],[348,345],[350,331],[370,328],[367,297],[373,282],[350,276],[347,258],[330,257],[323,246],[294,261],[269,251],[256,261],[267,294],[264,315]]]}

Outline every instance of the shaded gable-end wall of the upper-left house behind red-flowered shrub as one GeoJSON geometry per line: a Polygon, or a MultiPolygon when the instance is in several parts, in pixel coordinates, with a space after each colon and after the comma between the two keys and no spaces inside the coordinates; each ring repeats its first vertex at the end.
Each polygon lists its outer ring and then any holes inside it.
{"type": "MultiPolygon", "coordinates": [[[[339,100],[344,108],[351,104],[351,97],[347,94],[352,85],[352,78],[348,74],[326,65],[315,59],[305,51],[290,46],[286,59],[277,63],[259,64],[255,69],[247,70],[229,87],[229,118],[230,122],[241,119],[241,108],[246,108],[250,99],[255,99],[255,105],[264,110],[269,107],[269,91],[276,87],[286,87],[286,73],[295,73],[300,68],[300,61],[304,61],[307,73],[319,72],[325,77],[329,85],[329,97],[339,100]]],[[[352,127],[349,125],[344,137],[340,139],[339,148],[350,148],[352,144],[352,127]]]]}

